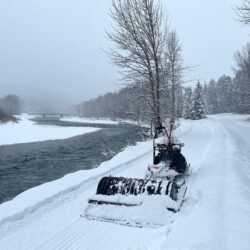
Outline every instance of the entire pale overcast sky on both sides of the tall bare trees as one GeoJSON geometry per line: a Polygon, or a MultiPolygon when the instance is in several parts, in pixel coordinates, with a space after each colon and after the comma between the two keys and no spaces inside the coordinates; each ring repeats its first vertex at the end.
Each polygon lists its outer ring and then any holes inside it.
{"type": "MultiPolygon", "coordinates": [[[[238,0],[164,0],[183,46],[187,79],[232,75],[233,54],[249,41],[234,19],[238,0]]],[[[102,49],[110,45],[110,0],[0,0],[0,97],[14,93],[78,103],[118,89],[102,49]]]]}

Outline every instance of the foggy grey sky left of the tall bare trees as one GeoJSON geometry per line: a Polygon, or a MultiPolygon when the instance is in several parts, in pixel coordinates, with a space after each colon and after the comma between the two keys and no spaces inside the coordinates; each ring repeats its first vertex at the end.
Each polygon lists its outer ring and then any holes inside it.
{"type": "Polygon", "coordinates": [[[117,88],[103,0],[1,0],[0,96],[71,105],[117,88]]]}

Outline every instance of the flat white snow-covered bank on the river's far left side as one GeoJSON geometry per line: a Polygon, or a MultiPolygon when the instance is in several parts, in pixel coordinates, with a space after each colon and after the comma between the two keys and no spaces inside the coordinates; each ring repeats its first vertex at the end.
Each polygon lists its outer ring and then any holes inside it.
{"type": "Polygon", "coordinates": [[[37,125],[29,120],[34,117],[26,114],[17,118],[20,119],[18,123],[0,124],[0,145],[66,139],[98,130],[88,127],[37,125]]]}

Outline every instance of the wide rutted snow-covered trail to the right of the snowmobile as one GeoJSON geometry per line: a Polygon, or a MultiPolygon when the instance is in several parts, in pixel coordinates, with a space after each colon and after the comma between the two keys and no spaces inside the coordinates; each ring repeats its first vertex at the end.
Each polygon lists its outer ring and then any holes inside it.
{"type": "Polygon", "coordinates": [[[250,124],[231,115],[206,123],[212,145],[164,244],[169,249],[250,249],[250,124]]]}

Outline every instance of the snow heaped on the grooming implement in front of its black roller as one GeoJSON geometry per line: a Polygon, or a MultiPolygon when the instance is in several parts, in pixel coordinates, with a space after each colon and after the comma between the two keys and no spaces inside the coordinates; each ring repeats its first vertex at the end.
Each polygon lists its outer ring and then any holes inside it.
{"type": "MultiPolygon", "coordinates": [[[[92,198],[115,202],[114,197],[96,195],[92,198]]],[[[90,204],[85,211],[85,217],[97,220],[103,218],[103,220],[120,224],[154,227],[169,224],[173,216],[173,212],[168,211],[167,207],[172,203],[172,206],[175,206],[175,202],[168,196],[116,195],[115,198],[117,203],[130,204],[131,206],[90,204]]]]}

